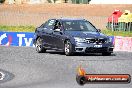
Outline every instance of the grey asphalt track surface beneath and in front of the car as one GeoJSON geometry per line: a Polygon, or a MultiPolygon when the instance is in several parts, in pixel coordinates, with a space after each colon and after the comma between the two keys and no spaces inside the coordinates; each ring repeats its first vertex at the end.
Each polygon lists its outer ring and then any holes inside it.
{"type": "Polygon", "coordinates": [[[132,83],[80,86],[75,80],[79,65],[88,74],[132,75],[132,52],[65,56],[53,51],[36,53],[32,47],[0,46],[0,71],[6,74],[0,88],[132,88],[132,83]]]}

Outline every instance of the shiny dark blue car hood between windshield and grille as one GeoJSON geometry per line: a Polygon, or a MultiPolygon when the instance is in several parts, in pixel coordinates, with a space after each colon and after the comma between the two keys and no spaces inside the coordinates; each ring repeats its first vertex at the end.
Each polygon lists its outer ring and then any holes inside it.
{"type": "Polygon", "coordinates": [[[70,37],[80,38],[106,38],[107,36],[100,32],[81,32],[81,31],[65,31],[65,34],[70,37]]]}

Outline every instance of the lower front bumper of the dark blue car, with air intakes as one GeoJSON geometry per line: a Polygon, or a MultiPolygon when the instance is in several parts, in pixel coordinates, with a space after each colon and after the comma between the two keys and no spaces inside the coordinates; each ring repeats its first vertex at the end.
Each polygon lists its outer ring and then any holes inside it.
{"type": "Polygon", "coordinates": [[[97,44],[80,44],[75,46],[75,52],[83,53],[113,53],[114,46],[112,44],[102,44],[101,47],[94,47],[97,44]]]}

